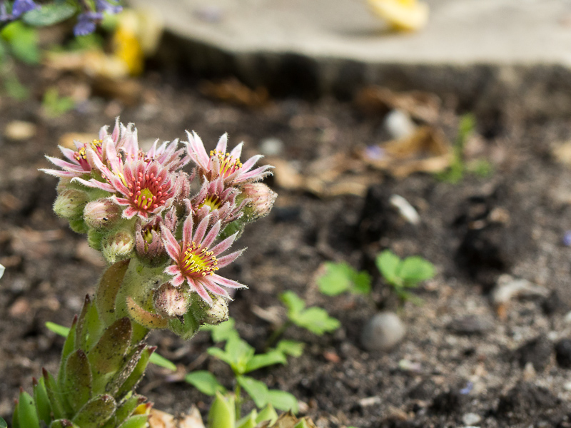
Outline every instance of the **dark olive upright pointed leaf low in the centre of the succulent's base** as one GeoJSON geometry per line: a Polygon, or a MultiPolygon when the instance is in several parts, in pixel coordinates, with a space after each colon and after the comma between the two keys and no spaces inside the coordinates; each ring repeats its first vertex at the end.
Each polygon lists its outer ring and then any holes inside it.
{"type": "Polygon", "coordinates": [[[77,412],[91,399],[91,365],[83,350],[69,356],[66,363],[65,391],[69,404],[77,412]]]}

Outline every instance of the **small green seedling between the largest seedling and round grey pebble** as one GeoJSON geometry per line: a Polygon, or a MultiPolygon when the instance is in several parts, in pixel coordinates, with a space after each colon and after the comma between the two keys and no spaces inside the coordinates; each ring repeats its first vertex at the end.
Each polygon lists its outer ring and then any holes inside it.
{"type": "Polygon", "coordinates": [[[293,291],[282,293],[280,300],[288,308],[288,321],[315,335],[321,336],[325,332],[334,332],[340,326],[339,320],[330,317],[321,307],[313,306],[305,309],[305,302],[293,291]]]}

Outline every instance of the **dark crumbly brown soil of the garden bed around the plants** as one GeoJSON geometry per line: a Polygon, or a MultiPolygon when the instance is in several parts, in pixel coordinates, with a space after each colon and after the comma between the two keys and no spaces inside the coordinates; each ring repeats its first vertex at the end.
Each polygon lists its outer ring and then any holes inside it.
{"type": "MultiPolygon", "coordinates": [[[[57,370],[63,339],[45,322],[69,325],[103,269],[85,237],[51,212],[56,179],[37,170],[48,166],[45,153],[58,156],[64,133],[96,133],[120,113],[121,121],[136,123],[145,143],[184,138],[183,131],[193,129],[214,146],[227,131],[231,145],[245,141],[249,156],[264,138],[280,138],[281,158],[302,171],[318,158],[349,156],[386,138],[382,120],[363,115],[351,103],[285,98],[258,109],[234,107],[201,96],[193,83],[153,74],[143,78],[143,103],[137,106],[91,98],[79,110],[47,119],[39,101],[46,86],[42,76],[41,70],[21,75],[35,95],[28,101],[0,101],[0,130],[14,120],[37,126],[29,140],[0,140],[4,417],[10,417],[19,387],[30,389],[41,367],[57,370]]],[[[441,125],[453,139],[459,112],[453,99],[447,106],[441,125]]],[[[395,180],[371,170],[378,183],[367,198],[318,198],[269,180],[280,194],[276,207],[246,230],[240,245],[248,250],[226,271],[250,286],[231,304],[238,330],[261,350],[273,327],[252,309],[279,307],[278,295],[285,290],[297,292],[308,305],[325,307],[342,327],[323,337],[291,327],[285,337],[305,342],[305,354],[254,377],[295,394],[307,404],[303,414],[320,428],[460,427],[469,413],[481,417],[480,427],[571,427],[570,345],[560,342],[571,339],[571,323],[565,320],[571,307],[571,249],[562,244],[571,229],[571,170],[550,156],[552,143],[571,137],[571,124],[520,116],[521,106],[515,111],[518,115],[505,111],[491,122],[485,116],[477,122],[487,153],[500,153],[490,158],[495,172],[487,178],[466,175],[452,185],[426,174],[395,180]],[[393,194],[415,206],[420,225],[406,223],[390,208],[393,194]],[[501,221],[491,214],[498,210],[501,221]],[[438,274],[417,292],[422,305],[400,307],[378,277],[372,260],[384,248],[435,264],[438,274]],[[375,302],[321,295],[315,272],[326,260],[368,269],[375,302]],[[503,273],[530,280],[551,295],[514,298],[497,312],[490,292],[503,273]],[[408,332],[390,352],[366,352],[360,332],[381,307],[397,310],[408,332]]],[[[232,386],[228,369],[205,353],[208,335],[183,342],[155,332],[151,342],[186,370],[211,370],[232,386]]],[[[206,412],[210,397],[171,381],[168,372],[151,367],[139,389],[158,409],[183,412],[195,403],[206,412]]]]}

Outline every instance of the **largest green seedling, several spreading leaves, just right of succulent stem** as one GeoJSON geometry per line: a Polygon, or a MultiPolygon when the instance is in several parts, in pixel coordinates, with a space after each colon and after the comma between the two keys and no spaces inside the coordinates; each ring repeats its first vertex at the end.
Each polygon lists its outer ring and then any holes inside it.
{"type": "MultiPolygon", "coordinates": [[[[293,341],[281,341],[275,349],[268,350],[263,354],[256,354],[256,350],[251,347],[246,340],[241,339],[234,327],[235,321],[230,318],[220,325],[203,326],[203,330],[211,332],[214,342],[226,342],[224,348],[209,347],[208,354],[226,362],[236,377],[236,387],[234,389],[233,400],[236,401],[236,415],[240,418],[241,410],[241,389],[253,399],[258,409],[271,404],[276,409],[291,410],[298,412],[298,400],[285,391],[268,389],[266,384],[253,377],[245,376],[249,372],[276,364],[287,364],[287,355],[298,357],[303,353],[303,344],[293,341]]],[[[196,389],[207,395],[226,394],[216,377],[206,370],[199,370],[186,375],[186,382],[192,384],[196,389]]]]}

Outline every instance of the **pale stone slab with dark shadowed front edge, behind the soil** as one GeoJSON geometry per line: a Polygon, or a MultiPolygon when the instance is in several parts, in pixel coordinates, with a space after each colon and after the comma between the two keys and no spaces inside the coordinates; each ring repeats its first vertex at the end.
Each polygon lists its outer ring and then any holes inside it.
{"type": "Polygon", "coordinates": [[[203,76],[305,95],[365,83],[461,100],[532,88],[539,111],[553,95],[571,112],[570,0],[426,2],[428,26],[395,34],[365,0],[131,0],[165,22],[166,62],[203,76]]]}

